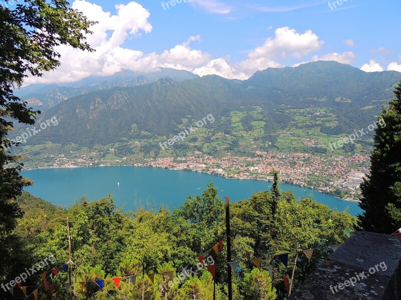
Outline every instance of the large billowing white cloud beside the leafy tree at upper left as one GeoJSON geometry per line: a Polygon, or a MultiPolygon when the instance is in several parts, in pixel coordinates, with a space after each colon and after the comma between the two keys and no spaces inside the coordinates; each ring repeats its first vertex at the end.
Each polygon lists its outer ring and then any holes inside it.
{"type": "Polygon", "coordinates": [[[85,0],[76,0],[72,7],[84,12],[89,19],[99,21],[91,27],[93,34],[88,35],[87,39],[96,52],[58,46],[56,49],[61,54],[61,66],[55,71],[44,73],[42,78],[29,77],[24,84],[71,82],[91,75],[112,75],[122,69],[151,71],[162,66],[192,70],[207,64],[211,59],[207,52],[190,48],[189,44],[199,40],[199,35],[190,36],[182,44],[164,50],[161,54],[151,52],[145,55],[142,51],[122,47],[127,38],[138,37],[142,32],[150,33],[152,30],[148,21],[149,11],[136,2],[116,5],[115,15],[85,0]]]}

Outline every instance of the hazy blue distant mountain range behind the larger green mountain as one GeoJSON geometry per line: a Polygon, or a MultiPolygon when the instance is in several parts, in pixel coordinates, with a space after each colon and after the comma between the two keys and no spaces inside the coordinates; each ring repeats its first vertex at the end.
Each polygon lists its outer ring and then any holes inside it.
{"type": "Polygon", "coordinates": [[[99,89],[113,87],[127,87],[149,84],[160,78],[171,78],[175,81],[197,78],[191,72],[171,68],[156,68],[153,72],[121,71],[112,76],[92,76],[77,82],[65,82],[60,84],[30,84],[14,93],[23,100],[36,98],[43,102],[43,106],[33,105],[34,109],[46,110],[68,98],[82,95],[99,89]]]}

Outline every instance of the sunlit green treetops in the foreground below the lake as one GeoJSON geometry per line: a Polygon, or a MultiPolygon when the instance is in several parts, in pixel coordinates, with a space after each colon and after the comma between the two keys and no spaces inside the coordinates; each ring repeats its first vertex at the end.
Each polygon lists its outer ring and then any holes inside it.
{"type": "MultiPolygon", "coordinates": [[[[207,269],[199,270],[164,294],[159,284],[166,276],[156,275],[154,284],[146,276],[196,265],[197,257],[202,254],[213,256],[217,265],[216,298],[226,299],[226,246],[219,255],[208,251],[226,237],[223,203],[217,191],[211,182],[202,195],[188,197],[173,212],[162,207],[156,211],[123,212],[110,195],[93,202],[82,198],[71,208],[61,209],[50,203],[43,205],[43,200],[24,192],[18,202],[25,215],[15,235],[22,253],[31,254],[25,257],[24,263],[14,261],[18,267],[2,274],[0,280],[14,279],[25,267],[51,254],[57,263],[44,271],[64,264],[68,260],[66,218],[69,216],[73,261],[79,266],[73,268],[74,282],[89,279],[83,271],[94,279],[137,275],[135,285],[122,280],[118,290],[112,280],[104,281],[104,291],[99,291],[94,283],[87,283],[83,292],[76,284],[77,299],[108,299],[111,295],[116,299],[212,300],[213,278],[207,269]]],[[[286,269],[276,255],[290,252],[289,261],[294,261],[297,247],[315,248],[311,262],[302,255],[297,259],[294,282],[303,282],[327,257],[328,246],[345,241],[356,224],[356,218],[347,212],[331,210],[308,197],[296,199],[291,191],[255,193],[247,200],[231,203],[231,213],[232,258],[239,261],[242,269],[233,272],[233,294],[237,300],[285,299],[287,291],[281,276],[290,276],[293,265],[290,262],[286,269]],[[274,211],[272,203],[277,205],[274,211]],[[263,257],[262,271],[247,259],[246,250],[251,257],[263,257]],[[273,280],[267,272],[268,265],[273,267],[273,280]]],[[[26,284],[40,284],[37,279],[30,279],[26,284]]],[[[67,273],[59,273],[54,280],[68,282],[67,273]]],[[[0,290],[3,298],[2,293],[0,290]]],[[[19,298],[17,292],[15,298],[19,298]]],[[[55,298],[67,299],[67,291],[58,288],[55,298]]],[[[51,299],[51,296],[42,292],[40,299],[51,299]]]]}

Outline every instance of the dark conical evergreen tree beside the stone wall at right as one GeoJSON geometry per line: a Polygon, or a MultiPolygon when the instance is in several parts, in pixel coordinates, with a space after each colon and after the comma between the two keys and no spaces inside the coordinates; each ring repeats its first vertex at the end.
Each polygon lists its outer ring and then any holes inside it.
{"type": "Polygon", "coordinates": [[[359,225],[366,231],[390,234],[401,227],[401,82],[396,99],[378,118],[370,175],[362,182],[359,225]]]}

